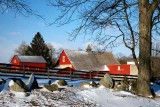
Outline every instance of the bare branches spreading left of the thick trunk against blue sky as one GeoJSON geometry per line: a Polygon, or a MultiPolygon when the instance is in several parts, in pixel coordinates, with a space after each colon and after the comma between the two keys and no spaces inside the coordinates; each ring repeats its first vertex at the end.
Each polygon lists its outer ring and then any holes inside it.
{"type": "MultiPolygon", "coordinates": [[[[74,29],[70,36],[76,39],[78,34],[95,35],[94,40],[103,50],[116,46],[116,41],[122,39],[125,46],[131,50],[134,61],[138,67],[135,48],[138,43],[138,2],[137,1],[108,1],[108,0],[57,0],[51,5],[61,9],[62,15],[55,23],[68,24],[74,20],[82,19],[80,25],[74,29]],[[77,14],[80,17],[74,17],[77,14]],[[132,22],[132,23],[131,23],[132,22]],[[110,34],[106,28],[116,29],[119,34],[110,34]]],[[[93,38],[93,36],[91,36],[93,38]]],[[[119,44],[118,44],[119,45],[119,44]]]]}

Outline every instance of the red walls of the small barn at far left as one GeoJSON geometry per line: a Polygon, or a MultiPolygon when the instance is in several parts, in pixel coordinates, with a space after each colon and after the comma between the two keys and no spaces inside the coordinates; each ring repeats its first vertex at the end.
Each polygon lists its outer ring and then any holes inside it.
{"type": "Polygon", "coordinates": [[[27,66],[29,66],[28,70],[35,70],[35,71],[46,71],[46,63],[32,63],[32,62],[20,62],[19,59],[17,58],[17,56],[14,56],[11,60],[11,64],[14,65],[21,65],[22,67],[17,67],[17,66],[12,66],[12,68],[21,68],[23,69],[23,66],[25,66],[25,68],[27,68],[27,66]],[[36,67],[36,68],[32,68],[32,67],[36,67]],[[39,68],[40,67],[40,68],[39,68]]]}

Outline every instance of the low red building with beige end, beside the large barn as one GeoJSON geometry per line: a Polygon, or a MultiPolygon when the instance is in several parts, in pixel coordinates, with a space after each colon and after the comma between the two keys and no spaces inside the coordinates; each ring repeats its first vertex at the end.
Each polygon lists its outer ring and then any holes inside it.
{"type": "Polygon", "coordinates": [[[136,65],[118,64],[107,65],[110,74],[117,75],[138,75],[138,69],[136,65]]]}

